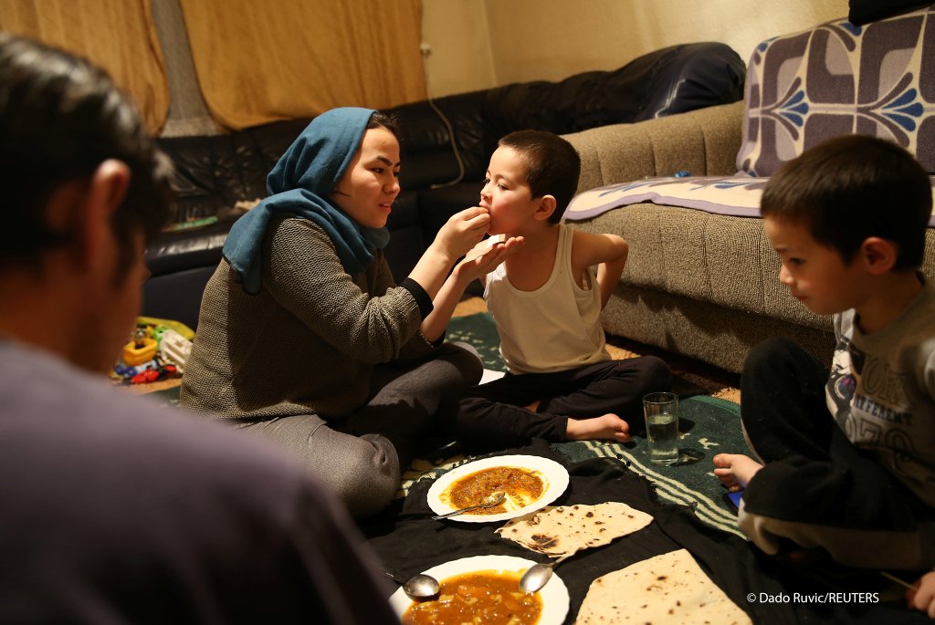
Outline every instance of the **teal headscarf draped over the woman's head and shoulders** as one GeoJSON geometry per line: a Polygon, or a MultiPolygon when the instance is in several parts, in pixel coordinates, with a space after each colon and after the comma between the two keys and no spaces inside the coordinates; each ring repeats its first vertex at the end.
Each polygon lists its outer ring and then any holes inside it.
{"type": "Polygon", "coordinates": [[[237,220],[224,242],[223,256],[245,291],[260,291],[263,237],[275,214],[295,215],[321,226],[349,274],[366,269],[376,250],[386,246],[390,240],[386,228],[359,225],[329,199],[360,148],[374,112],[345,107],[319,115],[266,176],[268,197],[237,220]]]}

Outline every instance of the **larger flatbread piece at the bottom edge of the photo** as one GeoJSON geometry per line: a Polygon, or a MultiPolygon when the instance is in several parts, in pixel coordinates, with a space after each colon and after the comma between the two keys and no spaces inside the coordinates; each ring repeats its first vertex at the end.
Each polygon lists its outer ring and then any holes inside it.
{"type": "Polygon", "coordinates": [[[685,549],[631,564],[591,582],[575,625],[598,623],[753,625],[685,549]]]}

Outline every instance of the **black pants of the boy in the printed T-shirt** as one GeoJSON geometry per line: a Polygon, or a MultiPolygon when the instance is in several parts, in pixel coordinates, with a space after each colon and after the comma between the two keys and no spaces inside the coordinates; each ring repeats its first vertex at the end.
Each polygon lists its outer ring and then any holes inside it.
{"type": "Polygon", "coordinates": [[[790,340],[750,352],[741,417],[764,467],[743,494],[741,529],[768,553],[789,539],[853,566],[930,569],[935,512],[847,440],[827,408],[827,378],[827,368],[790,340]]]}

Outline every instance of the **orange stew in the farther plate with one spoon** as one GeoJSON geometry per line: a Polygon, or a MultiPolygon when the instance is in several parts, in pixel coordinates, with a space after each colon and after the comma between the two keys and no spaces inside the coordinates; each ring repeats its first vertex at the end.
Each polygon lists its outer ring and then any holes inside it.
{"type": "MultiPolygon", "coordinates": [[[[518,501],[525,505],[539,499],[543,489],[542,478],[530,469],[495,466],[456,480],[449,490],[449,497],[453,508],[465,508],[480,504],[487,496],[503,490],[507,493],[508,501],[518,501]]],[[[496,515],[506,511],[506,506],[500,504],[474,510],[471,514],[496,515]]]]}

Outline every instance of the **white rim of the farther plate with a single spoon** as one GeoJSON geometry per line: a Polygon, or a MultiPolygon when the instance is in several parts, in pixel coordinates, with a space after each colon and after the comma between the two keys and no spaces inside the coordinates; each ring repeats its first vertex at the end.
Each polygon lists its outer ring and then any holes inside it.
{"type": "Polygon", "coordinates": [[[558,462],[540,456],[496,456],[496,458],[483,458],[482,460],[462,464],[459,467],[453,468],[443,476],[440,476],[439,479],[435,480],[435,484],[432,484],[431,488],[428,490],[428,507],[432,508],[432,511],[437,515],[443,515],[456,510],[456,507],[441,501],[441,493],[447,490],[453,481],[495,466],[516,466],[524,469],[538,470],[542,476],[542,481],[545,483],[545,490],[542,491],[542,496],[531,504],[526,504],[516,510],[509,510],[496,515],[477,515],[468,512],[450,518],[467,523],[490,523],[492,521],[520,517],[551,504],[568,488],[568,471],[558,462]]]}

